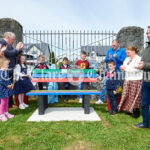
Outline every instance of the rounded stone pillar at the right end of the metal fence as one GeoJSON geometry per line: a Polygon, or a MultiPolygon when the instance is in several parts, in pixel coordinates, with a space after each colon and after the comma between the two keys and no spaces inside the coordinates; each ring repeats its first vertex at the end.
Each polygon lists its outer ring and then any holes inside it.
{"type": "Polygon", "coordinates": [[[117,40],[122,48],[135,46],[142,50],[144,46],[144,29],[136,26],[124,27],[118,32],[117,40]]]}

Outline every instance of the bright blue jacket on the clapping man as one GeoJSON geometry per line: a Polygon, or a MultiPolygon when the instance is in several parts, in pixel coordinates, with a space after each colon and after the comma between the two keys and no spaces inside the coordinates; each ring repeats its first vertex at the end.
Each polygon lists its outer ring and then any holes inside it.
{"type": "Polygon", "coordinates": [[[126,58],[126,51],[123,48],[119,48],[116,52],[111,48],[108,50],[106,58],[105,58],[105,62],[108,63],[109,62],[109,54],[112,55],[111,60],[114,60],[116,63],[116,70],[120,70],[120,66],[123,64],[125,58],[126,58]],[[116,59],[113,57],[113,55],[116,54],[117,57],[116,59]]]}

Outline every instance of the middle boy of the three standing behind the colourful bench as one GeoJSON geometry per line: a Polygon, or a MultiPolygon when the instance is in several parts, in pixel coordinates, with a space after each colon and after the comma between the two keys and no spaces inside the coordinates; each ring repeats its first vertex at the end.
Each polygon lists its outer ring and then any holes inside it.
{"type": "MultiPolygon", "coordinates": [[[[60,66],[60,69],[69,69],[69,68],[70,68],[70,65],[68,65],[68,58],[67,58],[67,57],[64,57],[64,58],[63,58],[63,62],[62,62],[62,63],[63,63],[63,64],[60,66]]],[[[64,83],[64,89],[65,89],[65,90],[70,89],[70,83],[69,83],[69,82],[65,82],[65,83],[64,83]]],[[[69,98],[69,96],[66,95],[66,96],[64,97],[64,101],[67,102],[67,101],[68,101],[68,98],[69,98]]]]}

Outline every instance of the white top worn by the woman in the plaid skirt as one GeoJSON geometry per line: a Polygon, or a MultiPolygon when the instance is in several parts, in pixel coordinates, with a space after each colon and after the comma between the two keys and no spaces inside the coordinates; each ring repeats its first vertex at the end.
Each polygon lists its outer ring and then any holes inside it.
{"type": "Polygon", "coordinates": [[[141,57],[136,55],[133,59],[127,57],[123,63],[125,69],[125,80],[142,80],[143,71],[136,69],[135,67],[141,61],[141,57]]]}

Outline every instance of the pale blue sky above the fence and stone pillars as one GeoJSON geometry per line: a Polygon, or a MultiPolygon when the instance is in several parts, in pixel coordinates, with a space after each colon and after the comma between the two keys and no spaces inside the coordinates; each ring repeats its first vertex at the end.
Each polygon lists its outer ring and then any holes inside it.
{"type": "Polygon", "coordinates": [[[150,25],[150,0],[0,0],[0,18],[23,30],[100,30],[150,25]]]}

